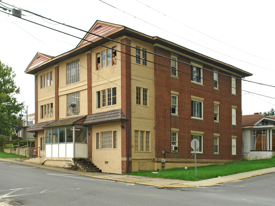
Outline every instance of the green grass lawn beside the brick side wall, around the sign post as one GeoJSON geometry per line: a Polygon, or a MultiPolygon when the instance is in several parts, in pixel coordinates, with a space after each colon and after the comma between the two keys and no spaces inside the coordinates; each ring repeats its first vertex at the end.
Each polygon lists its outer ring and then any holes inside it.
{"type": "Polygon", "coordinates": [[[172,168],[160,171],[139,171],[131,173],[130,175],[198,181],[218,176],[222,177],[226,175],[233,175],[237,173],[249,172],[270,167],[275,167],[275,157],[271,159],[237,161],[224,165],[208,165],[197,167],[197,177],[195,175],[195,167],[188,167],[187,169],[172,168]]]}

